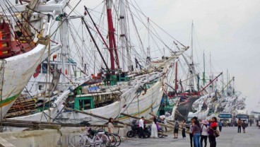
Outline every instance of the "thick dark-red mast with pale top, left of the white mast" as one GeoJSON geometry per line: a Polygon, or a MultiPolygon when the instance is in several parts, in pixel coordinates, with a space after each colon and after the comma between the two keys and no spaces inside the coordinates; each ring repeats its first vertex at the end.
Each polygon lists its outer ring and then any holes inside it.
{"type": "Polygon", "coordinates": [[[118,62],[118,55],[117,55],[117,47],[115,45],[115,37],[114,37],[114,27],[113,27],[113,20],[112,20],[112,0],[107,0],[107,25],[108,25],[108,39],[109,39],[109,51],[110,51],[110,60],[111,60],[111,70],[112,75],[115,75],[115,68],[114,63],[117,63],[117,66],[119,66],[118,62]],[[115,55],[115,56],[114,56],[115,55]]]}

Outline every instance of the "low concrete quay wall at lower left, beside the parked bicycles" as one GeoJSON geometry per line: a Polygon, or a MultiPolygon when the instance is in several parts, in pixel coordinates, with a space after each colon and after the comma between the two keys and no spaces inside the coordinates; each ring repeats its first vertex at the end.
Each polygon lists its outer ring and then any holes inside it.
{"type": "MultiPolygon", "coordinates": [[[[114,131],[125,139],[127,129],[118,129],[114,131]]],[[[71,146],[71,137],[79,133],[83,133],[82,127],[3,132],[0,133],[0,147],[68,147],[71,146]]]]}

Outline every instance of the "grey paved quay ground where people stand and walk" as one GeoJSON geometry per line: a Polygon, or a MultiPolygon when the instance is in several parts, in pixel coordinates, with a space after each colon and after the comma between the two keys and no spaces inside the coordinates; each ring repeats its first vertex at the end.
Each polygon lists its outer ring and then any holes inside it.
{"type": "MultiPolygon", "coordinates": [[[[172,139],[172,132],[168,132],[168,136],[164,139],[128,139],[122,142],[122,147],[126,146],[190,146],[189,136],[187,139],[182,139],[182,134],[179,132],[178,139],[172,139]]],[[[260,129],[258,127],[247,127],[246,133],[237,133],[237,127],[223,127],[220,136],[216,139],[218,147],[259,147],[260,146],[260,129]]],[[[204,144],[203,144],[204,146],[204,144]]],[[[209,147],[209,142],[208,145],[209,147]]]]}

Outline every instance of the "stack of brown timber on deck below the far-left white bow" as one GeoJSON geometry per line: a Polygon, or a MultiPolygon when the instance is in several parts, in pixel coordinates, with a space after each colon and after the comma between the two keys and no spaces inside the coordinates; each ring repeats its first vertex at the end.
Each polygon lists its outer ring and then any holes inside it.
{"type": "Polygon", "coordinates": [[[20,97],[13,103],[12,107],[4,117],[10,118],[30,114],[35,111],[35,106],[35,100],[20,97]]]}

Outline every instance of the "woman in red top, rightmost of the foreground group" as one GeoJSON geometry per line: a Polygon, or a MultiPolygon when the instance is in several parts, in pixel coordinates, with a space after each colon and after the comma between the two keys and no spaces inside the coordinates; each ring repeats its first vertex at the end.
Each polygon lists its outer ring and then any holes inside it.
{"type": "Polygon", "coordinates": [[[211,126],[208,129],[208,141],[209,141],[210,147],[217,146],[217,142],[215,141],[215,136],[214,136],[214,131],[217,130],[217,127],[218,127],[217,118],[212,117],[211,126]]]}

